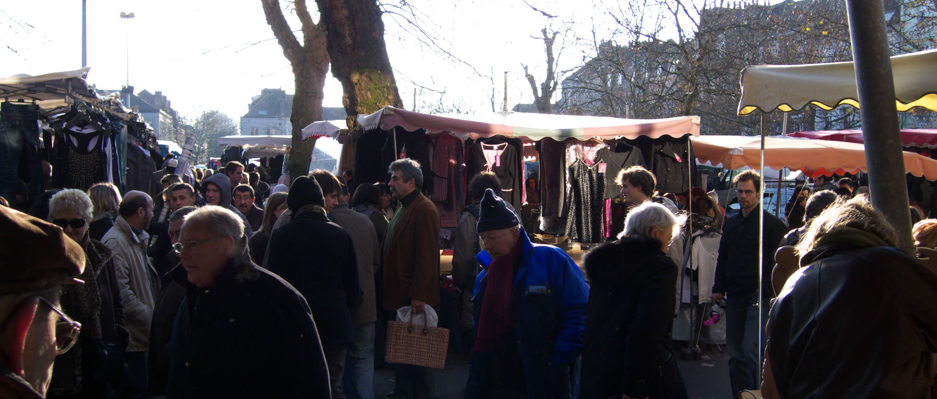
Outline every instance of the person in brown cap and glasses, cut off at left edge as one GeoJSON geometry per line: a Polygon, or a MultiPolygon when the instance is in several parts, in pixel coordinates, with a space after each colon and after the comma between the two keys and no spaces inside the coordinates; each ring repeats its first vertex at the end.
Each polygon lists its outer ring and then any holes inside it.
{"type": "Polygon", "coordinates": [[[41,398],[55,356],[82,325],[59,308],[63,284],[81,284],[84,251],[62,229],[0,206],[0,397],[41,398]]]}

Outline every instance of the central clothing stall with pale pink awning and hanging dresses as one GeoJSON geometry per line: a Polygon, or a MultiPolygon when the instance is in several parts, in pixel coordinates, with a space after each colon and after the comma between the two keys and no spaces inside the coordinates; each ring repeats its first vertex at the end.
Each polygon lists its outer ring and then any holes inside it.
{"type": "MultiPolygon", "coordinates": [[[[358,182],[385,182],[387,165],[406,155],[424,167],[424,193],[455,227],[468,179],[498,175],[501,197],[517,210],[528,201],[525,156],[539,160],[537,230],[593,244],[613,234],[617,171],[642,165],[662,178],[658,191],[689,191],[695,163],[688,136],[699,117],[633,120],[502,111],[428,115],[393,107],[362,115],[358,182]],[[598,194],[598,195],[595,195],[598,194]]],[[[530,232],[535,232],[531,229],[530,232]]]]}

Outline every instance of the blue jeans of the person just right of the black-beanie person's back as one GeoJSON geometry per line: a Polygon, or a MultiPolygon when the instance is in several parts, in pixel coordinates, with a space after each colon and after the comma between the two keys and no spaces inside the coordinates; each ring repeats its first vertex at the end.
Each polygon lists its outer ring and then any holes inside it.
{"type": "Polygon", "coordinates": [[[355,343],[349,346],[345,361],[345,397],[374,399],[375,323],[354,326],[355,343]]]}

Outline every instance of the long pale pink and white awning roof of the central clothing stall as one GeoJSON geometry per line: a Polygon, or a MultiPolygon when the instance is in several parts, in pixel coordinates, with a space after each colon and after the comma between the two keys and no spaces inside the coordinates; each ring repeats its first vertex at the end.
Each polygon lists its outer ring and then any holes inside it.
{"type": "Polygon", "coordinates": [[[621,119],[605,116],[555,115],[503,111],[494,113],[445,113],[427,115],[394,107],[384,107],[370,115],[360,115],[358,123],[365,129],[380,127],[389,130],[400,126],[407,130],[424,128],[430,133],[452,132],[461,139],[492,136],[541,140],[575,138],[635,139],[649,136],[699,136],[698,116],[679,116],[666,119],[621,119]]]}

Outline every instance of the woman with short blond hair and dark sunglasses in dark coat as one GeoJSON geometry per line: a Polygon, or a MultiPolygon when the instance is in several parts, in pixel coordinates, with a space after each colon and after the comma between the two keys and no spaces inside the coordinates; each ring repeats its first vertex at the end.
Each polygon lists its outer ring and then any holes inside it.
{"type": "Polygon", "coordinates": [[[83,285],[62,289],[62,308],[82,323],[76,347],[56,359],[49,397],[105,397],[108,384],[117,388],[129,333],[124,326],[124,304],[114,274],[112,254],[90,237],[91,199],[82,190],[66,189],[49,201],[49,221],[62,228],[85,254],[83,285]]]}

